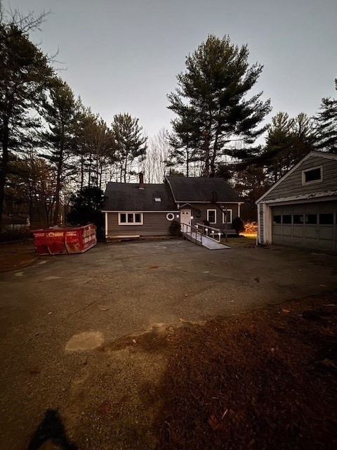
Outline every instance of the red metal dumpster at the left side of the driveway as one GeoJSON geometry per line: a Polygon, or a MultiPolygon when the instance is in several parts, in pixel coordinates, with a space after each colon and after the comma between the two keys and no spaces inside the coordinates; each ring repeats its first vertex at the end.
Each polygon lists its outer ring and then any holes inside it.
{"type": "Polygon", "coordinates": [[[65,255],[83,253],[97,243],[93,224],[75,228],[49,228],[32,230],[35,250],[39,255],[65,255]]]}

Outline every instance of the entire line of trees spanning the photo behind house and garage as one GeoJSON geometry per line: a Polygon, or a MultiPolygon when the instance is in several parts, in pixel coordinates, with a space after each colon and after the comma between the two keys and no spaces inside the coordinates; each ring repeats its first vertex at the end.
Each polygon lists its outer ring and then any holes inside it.
{"type": "Polygon", "coordinates": [[[128,113],[107,124],[30,41],[44,18],[0,8],[0,226],[3,217],[25,215],[31,223],[64,222],[75,191],[128,182],[140,170],[152,183],[167,172],[221,176],[253,219],[255,200],[303,155],[336,152],[337,101],[324,98],[315,117],[278,113],[264,124],[270,100],[250,94],[263,66],[249,65],[248,47],[227,36],[210,35],[187,56],[168,96],[176,114],[171,133],[161,129],[148,139],[128,113]]]}

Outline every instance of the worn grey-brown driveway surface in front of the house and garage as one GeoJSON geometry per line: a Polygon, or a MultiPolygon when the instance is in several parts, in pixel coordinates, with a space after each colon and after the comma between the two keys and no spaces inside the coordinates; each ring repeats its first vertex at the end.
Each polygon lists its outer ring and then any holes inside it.
{"type": "Polygon", "coordinates": [[[27,448],[44,418],[79,449],[153,448],[167,357],[137,352],[139,336],[150,333],[150,345],[186,322],[332,292],[336,261],[157,240],[100,244],[0,274],[0,449],[27,448]],[[124,336],[133,345],[120,345],[124,336]]]}

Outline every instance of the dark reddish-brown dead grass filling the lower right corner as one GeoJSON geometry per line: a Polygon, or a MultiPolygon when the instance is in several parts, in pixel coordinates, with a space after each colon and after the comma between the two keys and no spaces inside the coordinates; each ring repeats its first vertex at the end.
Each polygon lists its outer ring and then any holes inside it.
{"type": "Polygon", "coordinates": [[[337,296],[169,338],[159,450],[337,448],[337,296]]]}

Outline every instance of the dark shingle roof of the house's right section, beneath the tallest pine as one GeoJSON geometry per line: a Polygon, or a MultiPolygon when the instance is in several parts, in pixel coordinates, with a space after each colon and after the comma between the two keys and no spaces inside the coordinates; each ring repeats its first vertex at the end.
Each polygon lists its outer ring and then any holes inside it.
{"type": "Polygon", "coordinates": [[[166,176],[166,179],[176,202],[211,202],[213,191],[218,193],[218,202],[239,201],[234,189],[220,178],[166,176]]]}

